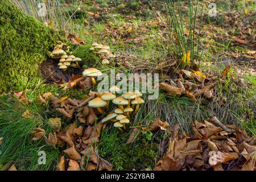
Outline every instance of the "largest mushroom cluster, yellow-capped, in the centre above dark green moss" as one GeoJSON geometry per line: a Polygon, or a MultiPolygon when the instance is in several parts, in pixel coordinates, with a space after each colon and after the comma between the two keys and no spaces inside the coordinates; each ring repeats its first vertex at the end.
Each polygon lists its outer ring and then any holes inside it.
{"type": "MultiPolygon", "coordinates": [[[[112,86],[109,91],[110,93],[102,94],[101,102],[106,102],[104,106],[106,106],[107,109],[110,100],[112,100],[113,104],[118,105],[118,107],[102,119],[101,122],[112,121],[114,122],[114,127],[117,127],[121,131],[123,131],[123,129],[126,130],[125,125],[130,123],[131,115],[136,114],[139,110],[139,105],[144,103],[141,98],[142,93],[135,90],[135,92],[127,92],[122,94],[122,96],[116,97],[115,92],[119,91],[117,86],[112,86]]],[[[102,110],[99,111],[103,113],[102,110]]]]}

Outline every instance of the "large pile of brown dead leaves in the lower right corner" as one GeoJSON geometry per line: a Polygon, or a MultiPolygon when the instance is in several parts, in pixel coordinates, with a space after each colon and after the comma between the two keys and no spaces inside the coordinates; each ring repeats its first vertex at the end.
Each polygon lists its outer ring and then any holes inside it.
{"type": "Polygon", "coordinates": [[[256,170],[255,137],[234,125],[223,125],[217,118],[195,122],[195,137],[179,137],[172,131],[168,150],[155,166],[157,171],[256,170]]]}

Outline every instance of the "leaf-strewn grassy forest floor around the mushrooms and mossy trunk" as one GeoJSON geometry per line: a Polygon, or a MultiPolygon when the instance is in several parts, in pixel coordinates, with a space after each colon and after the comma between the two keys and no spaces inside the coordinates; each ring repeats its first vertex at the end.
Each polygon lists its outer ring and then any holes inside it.
{"type": "MultiPolygon", "coordinates": [[[[0,169],[255,169],[256,5],[217,1],[217,16],[210,18],[211,2],[199,1],[196,21],[200,28],[194,30],[199,51],[195,64],[190,60],[191,67],[181,67],[184,55],[174,55],[179,38],[170,34],[164,2],[65,4],[72,15],[65,17],[65,26],[56,20],[44,23],[55,30],[65,29],[71,51],[83,65],[64,72],[58,69],[59,60],[49,57],[40,68],[42,82],[2,94],[0,169]],[[116,57],[109,58],[109,65],[90,50],[93,43],[110,46],[116,57]],[[101,123],[114,104],[104,114],[89,110],[85,121],[85,107],[79,105],[97,92],[90,79],[80,77],[90,67],[126,75],[158,73],[159,96],[156,100],[142,96],[144,104],[130,117],[123,133],[112,123],[101,123]],[[46,152],[45,165],[38,164],[40,151],[46,152]],[[211,162],[217,156],[220,162],[211,162]]],[[[184,37],[188,37],[192,30],[187,1],[177,12],[183,15],[184,37]]]]}

